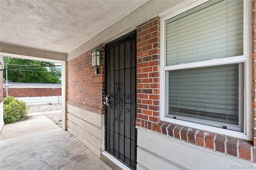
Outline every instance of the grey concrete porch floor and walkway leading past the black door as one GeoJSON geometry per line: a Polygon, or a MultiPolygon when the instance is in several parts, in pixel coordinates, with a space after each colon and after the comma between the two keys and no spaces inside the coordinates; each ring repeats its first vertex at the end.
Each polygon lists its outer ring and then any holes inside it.
{"type": "Polygon", "coordinates": [[[111,169],[68,131],[43,115],[4,125],[0,135],[1,170],[111,169]]]}

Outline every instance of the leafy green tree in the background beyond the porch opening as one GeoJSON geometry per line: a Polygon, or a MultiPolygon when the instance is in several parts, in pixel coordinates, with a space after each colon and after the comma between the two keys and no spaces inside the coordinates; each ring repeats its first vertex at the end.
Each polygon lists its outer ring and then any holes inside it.
{"type": "MultiPolygon", "coordinates": [[[[55,67],[55,63],[11,57],[4,57],[4,63],[5,65],[7,65],[8,68],[21,66],[19,68],[8,69],[8,81],[23,83],[61,83],[61,70],[59,67],[55,67]]],[[[4,70],[3,76],[6,80],[6,70],[4,70]]]]}

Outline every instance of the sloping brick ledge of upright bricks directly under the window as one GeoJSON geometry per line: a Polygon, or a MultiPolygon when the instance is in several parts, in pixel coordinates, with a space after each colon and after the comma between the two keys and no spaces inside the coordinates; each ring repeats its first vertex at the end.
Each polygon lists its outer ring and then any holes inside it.
{"type": "MultiPolygon", "coordinates": [[[[140,128],[146,128],[149,130],[146,126],[140,128]]],[[[187,142],[199,147],[208,148],[215,152],[233,156],[241,160],[256,162],[256,158],[254,158],[256,148],[250,141],[231,138],[228,136],[188,128],[164,121],[158,122],[155,129],[156,130],[152,128],[152,132],[155,131],[158,134],[162,134],[176,140],[182,140],[183,142],[187,142]]]]}

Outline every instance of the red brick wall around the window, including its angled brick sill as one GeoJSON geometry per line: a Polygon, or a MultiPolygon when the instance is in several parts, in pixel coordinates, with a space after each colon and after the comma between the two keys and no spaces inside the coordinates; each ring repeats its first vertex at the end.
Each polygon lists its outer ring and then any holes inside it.
{"type": "MultiPolygon", "coordinates": [[[[256,20],[256,15],[254,15],[254,19],[256,20]]],[[[256,21],[254,22],[254,29],[256,30],[256,21]]],[[[256,41],[256,33],[254,34],[254,40],[256,41]]],[[[170,138],[197,145],[198,147],[208,148],[219,153],[256,162],[256,109],[254,111],[254,141],[252,142],[160,121],[159,44],[159,17],[137,26],[136,126],[153,130],[170,138]]],[[[254,47],[256,51],[256,45],[254,47]]],[[[254,69],[256,70],[256,52],[254,52],[254,59],[254,69]]],[[[256,72],[254,77],[256,77],[256,72]]],[[[254,79],[256,80],[256,78],[254,79]]],[[[254,87],[256,89],[256,83],[254,87]]]]}

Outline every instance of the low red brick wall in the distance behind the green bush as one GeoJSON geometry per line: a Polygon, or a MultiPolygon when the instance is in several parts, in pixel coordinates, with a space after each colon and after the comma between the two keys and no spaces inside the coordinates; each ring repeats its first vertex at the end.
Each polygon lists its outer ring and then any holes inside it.
{"type": "MultiPolygon", "coordinates": [[[[2,90],[3,90],[4,97],[6,97],[5,89],[2,89],[2,90]]],[[[13,96],[13,97],[61,96],[61,88],[8,88],[8,96],[13,96]]]]}

